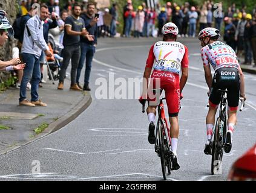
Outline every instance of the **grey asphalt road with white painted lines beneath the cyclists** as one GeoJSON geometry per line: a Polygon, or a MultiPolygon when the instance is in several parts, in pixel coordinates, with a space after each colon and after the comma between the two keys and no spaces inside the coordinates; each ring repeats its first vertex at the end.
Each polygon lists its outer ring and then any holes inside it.
{"type": "MultiPolygon", "coordinates": [[[[0,180],[162,180],[160,158],[147,140],[148,118],[131,83],[142,77],[156,40],[99,39],[91,106],[61,130],[1,155],[0,180]]],[[[232,163],[256,141],[256,76],[245,74],[248,103],[238,112],[234,145],[223,156],[222,174],[212,176],[211,156],[203,153],[208,90],[199,41],[180,42],[189,48],[190,67],[179,114],[181,168],[167,180],[226,180],[232,163]]]]}

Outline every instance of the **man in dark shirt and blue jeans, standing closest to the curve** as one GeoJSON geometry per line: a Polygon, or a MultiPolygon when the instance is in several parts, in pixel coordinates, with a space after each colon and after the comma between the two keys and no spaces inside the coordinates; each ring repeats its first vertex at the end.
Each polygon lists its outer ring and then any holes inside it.
{"type": "Polygon", "coordinates": [[[91,64],[93,63],[93,56],[96,50],[97,45],[97,19],[98,17],[94,17],[94,9],[95,5],[92,3],[88,3],[87,5],[87,14],[82,14],[82,19],[85,22],[85,28],[87,28],[90,36],[94,37],[94,40],[88,40],[85,38],[81,39],[81,57],[79,61],[79,66],[77,68],[77,77],[76,83],[83,90],[90,91],[89,82],[90,82],[90,73],[91,73],[91,64]],[[86,58],[86,62],[85,62],[86,58]],[[85,63],[85,77],[84,77],[84,87],[79,85],[79,78],[82,68],[85,63]]]}

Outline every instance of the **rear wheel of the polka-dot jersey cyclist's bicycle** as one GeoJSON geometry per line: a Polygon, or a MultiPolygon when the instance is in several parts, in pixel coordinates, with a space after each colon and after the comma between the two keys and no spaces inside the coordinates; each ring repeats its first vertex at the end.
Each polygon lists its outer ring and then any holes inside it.
{"type": "Polygon", "coordinates": [[[222,156],[223,156],[223,140],[222,140],[222,121],[217,119],[214,131],[214,141],[212,143],[212,162],[211,173],[222,174],[222,156]]]}

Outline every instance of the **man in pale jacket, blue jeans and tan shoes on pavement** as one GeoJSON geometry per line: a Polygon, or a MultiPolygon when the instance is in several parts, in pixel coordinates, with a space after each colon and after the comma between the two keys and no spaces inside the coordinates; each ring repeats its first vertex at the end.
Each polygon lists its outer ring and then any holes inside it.
{"type": "Polygon", "coordinates": [[[47,43],[44,40],[43,24],[48,17],[47,5],[41,6],[41,17],[38,14],[28,19],[25,31],[24,40],[22,43],[21,55],[22,60],[26,63],[24,68],[24,75],[21,81],[21,88],[19,90],[19,105],[23,106],[47,106],[39,100],[38,86],[41,78],[39,57],[42,50],[47,56],[51,56],[47,43]],[[27,83],[31,83],[31,101],[27,100],[26,87],[27,83]]]}

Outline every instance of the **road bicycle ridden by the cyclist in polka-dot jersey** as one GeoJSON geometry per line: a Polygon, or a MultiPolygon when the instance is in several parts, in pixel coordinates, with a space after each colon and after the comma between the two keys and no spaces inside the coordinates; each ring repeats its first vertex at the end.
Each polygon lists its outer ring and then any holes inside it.
{"type": "MultiPolygon", "coordinates": [[[[227,130],[227,119],[226,119],[226,106],[227,106],[227,96],[228,90],[218,89],[220,92],[220,109],[217,121],[214,126],[214,130],[212,132],[212,138],[210,141],[211,148],[211,173],[214,174],[222,174],[222,157],[223,157],[223,149],[226,143],[226,130],[227,130]]],[[[239,98],[241,101],[240,111],[243,110],[245,106],[245,100],[243,98],[239,98]]]]}

